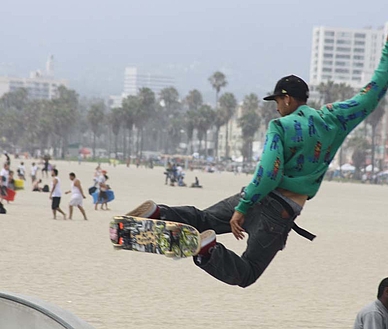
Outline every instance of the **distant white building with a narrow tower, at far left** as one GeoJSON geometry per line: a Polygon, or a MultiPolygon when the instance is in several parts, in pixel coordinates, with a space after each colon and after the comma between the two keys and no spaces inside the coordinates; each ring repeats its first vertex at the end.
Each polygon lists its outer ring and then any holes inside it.
{"type": "Polygon", "coordinates": [[[5,93],[25,88],[31,99],[52,99],[57,96],[59,86],[68,86],[66,80],[54,79],[53,56],[46,63],[46,72],[39,70],[30,73],[29,78],[0,77],[0,97],[5,93]]]}

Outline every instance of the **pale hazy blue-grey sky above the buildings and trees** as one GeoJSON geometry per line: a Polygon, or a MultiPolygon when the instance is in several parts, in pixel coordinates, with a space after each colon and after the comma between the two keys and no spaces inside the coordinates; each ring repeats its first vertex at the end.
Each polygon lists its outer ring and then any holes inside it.
{"type": "Polygon", "coordinates": [[[27,76],[54,54],[56,77],[82,95],[120,94],[135,65],[209,96],[221,70],[241,100],[287,74],[308,80],[314,26],[376,28],[388,2],[2,0],[0,13],[0,75],[27,76]]]}

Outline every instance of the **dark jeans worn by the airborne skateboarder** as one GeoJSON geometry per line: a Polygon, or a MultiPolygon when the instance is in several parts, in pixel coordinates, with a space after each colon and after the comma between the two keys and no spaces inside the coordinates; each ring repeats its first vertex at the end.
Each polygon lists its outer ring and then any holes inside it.
{"type": "MultiPolygon", "coordinates": [[[[240,194],[236,194],[202,211],[191,206],[159,205],[160,215],[161,219],[192,225],[200,232],[213,229],[217,234],[231,233],[229,221],[239,200],[240,194]]],[[[241,257],[217,243],[209,260],[199,262],[194,257],[194,263],[218,280],[247,287],[261,276],[277,252],[285,247],[288,233],[301,210],[292,200],[276,191],[271,192],[245,215],[243,228],[249,238],[241,257]]]]}

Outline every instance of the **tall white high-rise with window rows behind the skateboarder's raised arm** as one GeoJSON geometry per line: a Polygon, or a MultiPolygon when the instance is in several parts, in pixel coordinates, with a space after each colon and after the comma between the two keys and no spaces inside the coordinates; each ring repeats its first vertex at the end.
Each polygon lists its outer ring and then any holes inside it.
{"type": "Polygon", "coordinates": [[[377,67],[388,23],[378,29],[315,27],[310,65],[312,90],[321,82],[334,81],[359,88],[377,67]]]}

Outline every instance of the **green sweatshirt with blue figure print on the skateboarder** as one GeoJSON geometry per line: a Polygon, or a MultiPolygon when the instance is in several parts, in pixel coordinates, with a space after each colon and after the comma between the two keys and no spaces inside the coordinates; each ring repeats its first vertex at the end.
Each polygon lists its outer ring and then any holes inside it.
{"type": "Polygon", "coordinates": [[[320,110],[302,105],[269,123],[260,162],[235,209],[246,214],[278,187],[314,197],[346,136],[377,107],[387,88],[388,40],[371,82],[353,98],[320,110]]]}

